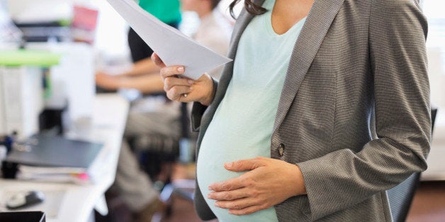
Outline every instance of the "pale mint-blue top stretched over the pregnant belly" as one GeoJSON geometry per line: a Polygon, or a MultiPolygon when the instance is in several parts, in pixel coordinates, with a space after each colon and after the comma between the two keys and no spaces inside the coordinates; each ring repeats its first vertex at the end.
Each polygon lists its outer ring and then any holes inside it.
{"type": "Polygon", "coordinates": [[[271,25],[274,3],[275,0],[266,0],[263,7],[269,11],[255,16],[244,30],[232,80],[205,132],[198,155],[198,185],[220,222],[278,221],[274,207],[235,216],[206,198],[208,185],[242,174],[225,170],[224,163],[271,156],[271,135],[281,89],[293,46],[305,22],[303,19],[283,35],[276,34],[271,25]]]}

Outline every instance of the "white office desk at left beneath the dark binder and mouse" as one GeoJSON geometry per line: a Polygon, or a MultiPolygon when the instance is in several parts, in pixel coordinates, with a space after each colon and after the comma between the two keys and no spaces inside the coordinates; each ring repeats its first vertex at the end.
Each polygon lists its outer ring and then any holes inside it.
{"type": "MultiPolygon", "coordinates": [[[[97,95],[91,119],[81,120],[67,136],[75,139],[88,139],[104,143],[101,152],[91,165],[97,182],[88,185],[64,184],[55,182],[27,182],[0,179],[0,202],[3,203],[6,191],[38,189],[43,192],[59,191],[61,195],[57,217],[47,216],[49,222],[93,221],[93,209],[101,214],[108,213],[104,192],[113,184],[120,144],[128,114],[128,102],[120,95],[97,95]]],[[[52,197],[52,196],[51,196],[52,197]]],[[[48,197],[45,202],[56,203],[48,197]]],[[[45,204],[44,202],[44,204],[45,204]]],[[[41,206],[43,207],[43,206],[41,206]]],[[[33,210],[39,206],[33,207],[33,210]]],[[[40,209],[45,211],[45,209],[40,209]]]]}

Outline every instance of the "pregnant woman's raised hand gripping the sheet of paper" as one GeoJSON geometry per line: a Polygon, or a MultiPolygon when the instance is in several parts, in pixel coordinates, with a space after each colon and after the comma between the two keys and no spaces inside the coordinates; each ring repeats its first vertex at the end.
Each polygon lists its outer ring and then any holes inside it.
{"type": "Polygon", "coordinates": [[[166,66],[156,53],[152,54],[152,61],[161,69],[164,90],[170,100],[210,105],[213,100],[213,80],[208,74],[193,80],[181,76],[185,71],[184,66],[166,66]]]}

